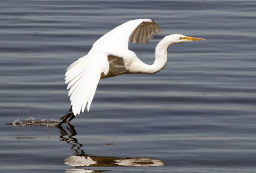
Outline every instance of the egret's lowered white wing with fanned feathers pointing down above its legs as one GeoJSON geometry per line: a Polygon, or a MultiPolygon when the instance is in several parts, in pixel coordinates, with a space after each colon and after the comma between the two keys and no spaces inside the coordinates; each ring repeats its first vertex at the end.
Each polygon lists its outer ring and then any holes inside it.
{"type": "Polygon", "coordinates": [[[74,115],[84,112],[87,104],[89,111],[101,73],[109,70],[108,56],[93,54],[84,56],[72,63],[65,73],[68,83],[68,96],[74,115]]]}

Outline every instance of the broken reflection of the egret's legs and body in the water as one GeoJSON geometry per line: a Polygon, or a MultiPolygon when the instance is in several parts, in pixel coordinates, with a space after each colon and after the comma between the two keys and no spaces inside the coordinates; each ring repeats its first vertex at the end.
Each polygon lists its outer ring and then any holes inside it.
{"type": "Polygon", "coordinates": [[[68,169],[67,172],[102,172],[100,170],[85,170],[77,169],[77,167],[156,167],[164,166],[164,162],[153,158],[118,158],[108,156],[92,156],[85,154],[80,144],[76,139],[76,130],[71,124],[67,125],[67,130],[62,126],[58,126],[60,130],[60,140],[71,144],[70,149],[74,150],[73,156],[65,159],[65,164],[76,169],[68,169]],[[70,134],[68,134],[70,133],[70,134]]]}

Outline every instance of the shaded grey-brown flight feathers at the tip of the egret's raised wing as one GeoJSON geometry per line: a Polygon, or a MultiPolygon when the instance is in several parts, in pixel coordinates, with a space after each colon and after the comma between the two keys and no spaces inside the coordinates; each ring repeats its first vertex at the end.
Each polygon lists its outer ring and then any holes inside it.
{"type": "Polygon", "coordinates": [[[157,32],[161,32],[161,28],[157,25],[154,20],[152,22],[142,22],[134,31],[132,32],[129,41],[131,43],[148,43],[148,38],[152,39],[153,34],[157,35],[157,32]]]}

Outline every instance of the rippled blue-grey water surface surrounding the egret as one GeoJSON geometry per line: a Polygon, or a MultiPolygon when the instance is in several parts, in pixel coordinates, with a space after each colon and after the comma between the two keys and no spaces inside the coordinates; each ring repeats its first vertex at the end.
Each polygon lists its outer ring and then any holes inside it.
{"type": "Polygon", "coordinates": [[[0,1],[0,172],[255,172],[255,8],[256,1],[0,1]],[[6,125],[66,114],[69,64],[102,34],[141,18],[162,29],[148,45],[130,46],[145,63],[164,35],[206,40],[170,47],[154,75],[101,80],[74,127],[6,125]],[[77,155],[103,161],[67,163],[77,155]],[[106,163],[124,158],[164,165],[106,163]]]}

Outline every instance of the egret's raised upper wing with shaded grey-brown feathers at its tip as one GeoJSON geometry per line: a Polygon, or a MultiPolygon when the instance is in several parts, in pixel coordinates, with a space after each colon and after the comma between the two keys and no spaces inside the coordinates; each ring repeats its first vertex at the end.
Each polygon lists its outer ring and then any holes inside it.
{"type": "MultiPolygon", "coordinates": [[[[128,50],[128,43],[148,43],[160,27],[151,19],[136,19],[125,22],[104,34],[94,44],[90,52],[108,51],[118,56],[118,52],[128,50]]],[[[90,53],[89,52],[89,53],[90,53]]]]}

